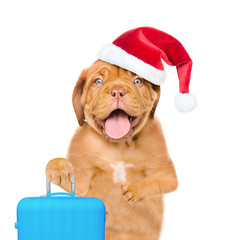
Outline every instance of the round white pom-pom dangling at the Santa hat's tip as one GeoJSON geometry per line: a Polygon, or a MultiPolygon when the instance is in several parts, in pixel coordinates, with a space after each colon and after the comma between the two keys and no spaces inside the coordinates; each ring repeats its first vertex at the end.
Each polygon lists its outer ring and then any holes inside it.
{"type": "Polygon", "coordinates": [[[197,99],[190,93],[178,93],[175,96],[175,107],[182,113],[190,112],[197,106],[197,99]]]}

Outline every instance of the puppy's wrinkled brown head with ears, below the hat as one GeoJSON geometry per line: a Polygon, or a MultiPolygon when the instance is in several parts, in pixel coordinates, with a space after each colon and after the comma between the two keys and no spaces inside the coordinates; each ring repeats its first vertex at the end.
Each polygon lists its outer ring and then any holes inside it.
{"type": "Polygon", "coordinates": [[[80,125],[84,119],[109,141],[125,141],[154,116],[160,87],[123,68],[96,61],[85,69],[73,92],[80,125]]]}

